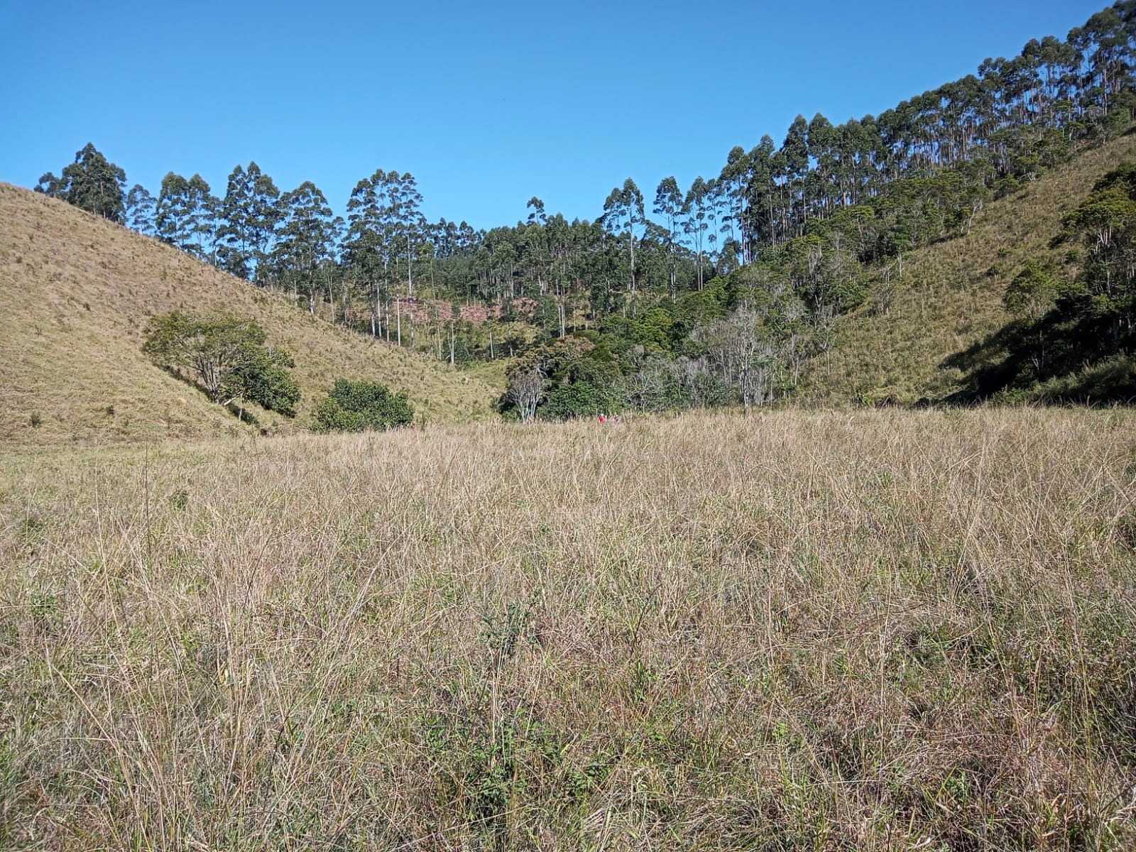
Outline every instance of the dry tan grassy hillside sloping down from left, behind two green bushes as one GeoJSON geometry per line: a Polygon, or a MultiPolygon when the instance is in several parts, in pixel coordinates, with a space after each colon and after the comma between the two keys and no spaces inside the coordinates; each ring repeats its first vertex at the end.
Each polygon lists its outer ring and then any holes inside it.
{"type": "MultiPolygon", "coordinates": [[[[174,308],[227,308],[260,321],[295,358],[300,425],[340,376],[404,390],[432,420],[486,416],[499,393],[479,377],[314,319],[154,240],[0,183],[0,441],[241,431],[141,354],[149,317],[174,308]]],[[[294,427],[273,414],[261,425],[294,427]]]]}

